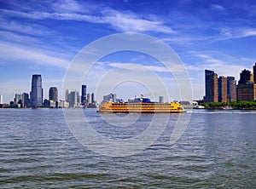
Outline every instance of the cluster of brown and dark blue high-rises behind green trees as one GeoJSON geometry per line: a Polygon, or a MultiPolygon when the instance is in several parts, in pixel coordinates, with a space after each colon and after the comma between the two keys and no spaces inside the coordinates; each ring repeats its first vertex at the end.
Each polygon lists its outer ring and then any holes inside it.
{"type": "Polygon", "coordinates": [[[256,100],[256,63],[253,72],[243,69],[236,84],[235,77],[224,77],[205,70],[204,102],[235,102],[240,100],[256,100]]]}

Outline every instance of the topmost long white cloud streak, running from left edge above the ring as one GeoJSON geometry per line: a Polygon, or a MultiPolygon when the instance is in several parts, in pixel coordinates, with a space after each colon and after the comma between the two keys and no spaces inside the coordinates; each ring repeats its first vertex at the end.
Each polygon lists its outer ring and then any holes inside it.
{"type": "MultiPolygon", "coordinates": [[[[74,8],[77,9],[77,8],[74,8]]],[[[33,19],[33,20],[78,20],[97,24],[108,24],[118,31],[159,31],[163,33],[173,33],[171,27],[165,26],[161,20],[146,20],[139,15],[114,9],[103,9],[100,14],[77,14],[77,13],[50,13],[50,12],[21,12],[11,9],[0,9],[4,15],[12,15],[15,17],[33,19]]]]}

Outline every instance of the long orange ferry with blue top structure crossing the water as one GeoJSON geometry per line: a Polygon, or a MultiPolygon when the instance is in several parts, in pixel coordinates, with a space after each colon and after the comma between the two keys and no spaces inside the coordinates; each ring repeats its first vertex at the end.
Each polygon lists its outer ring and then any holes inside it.
{"type": "Polygon", "coordinates": [[[135,98],[129,102],[105,102],[101,113],[180,113],[185,112],[178,102],[151,102],[148,98],[135,98]]]}

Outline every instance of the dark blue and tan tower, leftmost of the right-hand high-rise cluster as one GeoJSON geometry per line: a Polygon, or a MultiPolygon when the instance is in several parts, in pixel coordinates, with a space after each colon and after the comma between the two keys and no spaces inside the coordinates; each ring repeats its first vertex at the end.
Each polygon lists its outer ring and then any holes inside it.
{"type": "Polygon", "coordinates": [[[213,71],[205,70],[206,95],[205,102],[218,102],[218,75],[213,71]]]}

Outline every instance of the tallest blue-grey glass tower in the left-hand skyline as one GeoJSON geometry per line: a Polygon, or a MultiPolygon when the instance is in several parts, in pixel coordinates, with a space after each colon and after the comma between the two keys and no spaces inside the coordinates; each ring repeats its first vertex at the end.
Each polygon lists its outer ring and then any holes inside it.
{"type": "Polygon", "coordinates": [[[43,106],[43,88],[41,75],[32,75],[31,106],[43,106]]]}

